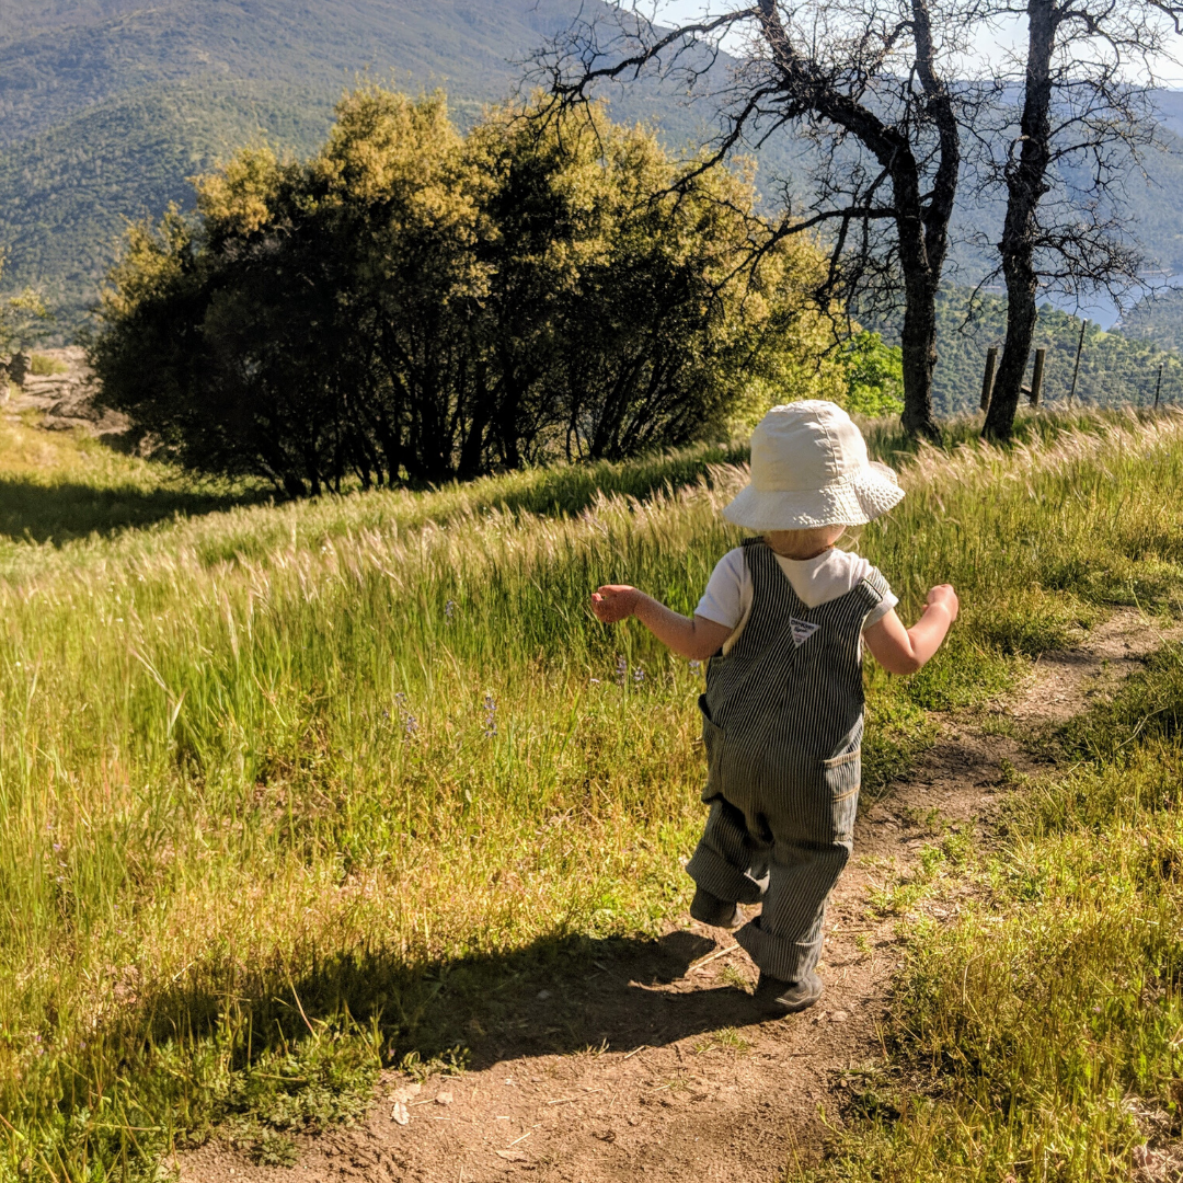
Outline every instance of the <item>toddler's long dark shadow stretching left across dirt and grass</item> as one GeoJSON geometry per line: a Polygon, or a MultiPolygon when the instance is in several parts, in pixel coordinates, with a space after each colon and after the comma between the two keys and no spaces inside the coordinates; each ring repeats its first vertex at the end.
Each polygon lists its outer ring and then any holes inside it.
{"type": "MultiPolygon", "coordinates": [[[[485,1068],[523,1055],[660,1047],[756,1021],[745,990],[706,985],[711,975],[693,968],[718,949],[711,938],[677,931],[659,939],[543,937],[421,967],[393,952],[355,953],[322,959],[295,980],[260,969],[235,982],[253,1035],[234,1059],[258,1059],[342,1022],[380,1034],[395,1066],[411,1056],[485,1068]]],[[[144,1000],[146,1034],[167,1040],[180,1028],[208,1036],[221,1026],[224,995],[216,983],[190,980],[144,1000]]]]}

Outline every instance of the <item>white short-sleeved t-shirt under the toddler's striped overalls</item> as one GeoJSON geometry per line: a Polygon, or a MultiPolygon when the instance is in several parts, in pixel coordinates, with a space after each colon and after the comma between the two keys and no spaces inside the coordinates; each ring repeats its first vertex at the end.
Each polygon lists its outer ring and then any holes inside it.
{"type": "MultiPolygon", "coordinates": [[[[874,570],[861,555],[852,555],[834,547],[823,550],[814,558],[784,558],[775,551],[774,557],[807,608],[816,608],[821,603],[846,595],[847,592],[853,592],[874,570]]],[[[694,609],[696,616],[705,616],[733,631],[723,646],[724,652],[738,640],[739,626],[748,622],[751,597],[751,573],[744,562],[743,547],[736,547],[718,561],[703,599],[694,609]]],[[[877,625],[897,603],[899,599],[888,592],[871,609],[862,625],[864,629],[877,625]]]]}

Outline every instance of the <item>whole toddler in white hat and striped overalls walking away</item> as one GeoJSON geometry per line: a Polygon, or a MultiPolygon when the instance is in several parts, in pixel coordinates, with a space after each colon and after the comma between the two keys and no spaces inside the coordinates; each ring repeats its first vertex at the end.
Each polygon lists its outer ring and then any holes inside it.
{"type": "Polygon", "coordinates": [[[762,536],[723,556],[693,619],[633,587],[592,596],[605,623],[636,616],[675,653],[710,658],[699,698],[710,814],[686,867],[690,914],[739,930],[771,1015],[822,995],[826,900],[851,856],[859,800],[862,644],[890,673],[914,673],[957,619],[943,584],[905,629],[884,576],[834,547],[903,496],[840,407],[774,407],[752,433],[751,480],[723,511],[762,536]],[[746,920],[741,905],[756,903],[746,920]]]}

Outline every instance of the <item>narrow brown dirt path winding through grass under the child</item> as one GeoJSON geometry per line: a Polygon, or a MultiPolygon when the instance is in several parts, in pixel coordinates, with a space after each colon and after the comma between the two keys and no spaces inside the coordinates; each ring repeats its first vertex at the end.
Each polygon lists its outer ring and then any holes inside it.
{"type": "MultiPolygon", "coordinates": [[[[795,1157],[816,1157],[822,1114],[840,1120],[860,1069],[881,1062],[877,1024],[900,949],[896,922],[868,916],[868,893],[906,874],[936,828],[988,821],[1008,765],[1034,770],[997,733],[1003,719],[1062,722],[1179,632],[1119,612],[1037,662],[1010,703],[945,723],[923,765],[860,820],[827,922],[827,993],[812,1010],[757,1022],[755,967],[729,935],[694,924],[606,952],[577,988],[521,1000],[463,1078],[415,1092],[390,1074],[361,1126],[306,1139],[295,1168],[211,1143],[182,1161],[183,1183],[780,1179],[795,1157]]],[[[929,911],[951,917],[957,900],[929,911]]]]}

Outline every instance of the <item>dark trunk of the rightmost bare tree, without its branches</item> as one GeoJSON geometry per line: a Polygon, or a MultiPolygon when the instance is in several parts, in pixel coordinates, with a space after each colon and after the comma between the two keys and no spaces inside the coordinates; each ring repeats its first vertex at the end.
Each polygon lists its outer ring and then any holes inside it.
{"type": "Polygon", "coordinates": [[[982,434],[1010,438],[1022,393],[1027,357],[1035,335],[1039,277],[1035,272],[1035,231],[1046,181],[1052,140],[1052,53],[1055,49],[1055,0],[1027,4],[1027,85],[1020,124],[1019,162],[1007,168],[1007,220],[998,245],[1007,282],[1007,340],[994,380],[994,397],[982,434]]]}

